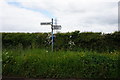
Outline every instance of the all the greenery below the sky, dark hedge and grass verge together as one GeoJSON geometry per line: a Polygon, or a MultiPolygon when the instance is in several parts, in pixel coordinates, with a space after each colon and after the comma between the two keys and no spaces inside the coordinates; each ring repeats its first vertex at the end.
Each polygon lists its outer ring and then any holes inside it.
{"type": "Polygon", "coordinates": [[[2,33],[3,76],[118,78],[120,32],[2,33]]]}

